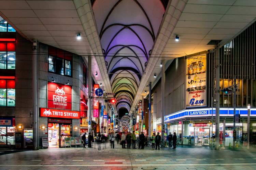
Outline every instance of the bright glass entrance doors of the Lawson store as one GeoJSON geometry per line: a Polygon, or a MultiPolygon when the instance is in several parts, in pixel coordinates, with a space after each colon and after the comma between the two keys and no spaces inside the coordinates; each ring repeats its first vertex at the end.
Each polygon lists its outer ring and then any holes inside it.
{"type": "Polygon", "coordinates": [[[195,128],[195,145],[209,145],[210,128],[195,128]]]}

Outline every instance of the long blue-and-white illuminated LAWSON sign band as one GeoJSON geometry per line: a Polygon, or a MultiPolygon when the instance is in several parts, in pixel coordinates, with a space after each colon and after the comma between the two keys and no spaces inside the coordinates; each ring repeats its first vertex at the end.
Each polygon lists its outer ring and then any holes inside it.
{"type": "MultiPolygon", "coordinates": [[[[176,119],[186,118],[186,117],[207,117],[215,116],[215,108],[201,108],[201,109],[185,109],[180,112],[176,112],[165,116],[165,122],[169,122],[176,119]]],[[[236,108],[236,114],[240,116],[247,116],[247,108],[236,108]]],[[[233,108],[220,108],[219,116],[234,116],[233,108]]],[[[256,108],[251,109],[251,116],[256,117],[256,108]]]]}

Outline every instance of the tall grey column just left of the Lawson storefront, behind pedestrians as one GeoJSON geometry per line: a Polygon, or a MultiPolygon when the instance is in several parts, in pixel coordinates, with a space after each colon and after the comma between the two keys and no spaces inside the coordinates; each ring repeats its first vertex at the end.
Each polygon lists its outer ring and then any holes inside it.
{"type": "Polygon", "coordinates": [[[161,77],[161,125],[162,125],[162,130],[161,130],[161,139],[163,144],[165,143],[165,60],[161,60],[162,63],[162,77],[161,77]]]}

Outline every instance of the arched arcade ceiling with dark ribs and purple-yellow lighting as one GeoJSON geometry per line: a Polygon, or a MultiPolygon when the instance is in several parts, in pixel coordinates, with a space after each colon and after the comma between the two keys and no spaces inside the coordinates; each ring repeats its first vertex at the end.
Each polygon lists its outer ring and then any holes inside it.
{"type": "Polygon", "coordinates": [[[116,108],[131,109],[168,0],[92,0],[116,108]]]}

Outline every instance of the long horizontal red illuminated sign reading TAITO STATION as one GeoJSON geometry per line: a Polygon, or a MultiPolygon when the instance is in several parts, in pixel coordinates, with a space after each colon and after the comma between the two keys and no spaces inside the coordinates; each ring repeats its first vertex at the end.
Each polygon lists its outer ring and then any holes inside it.
{"type": "Polygon", "coordinates": [[[40,116],[42,117],[54,117],[65,119],[80,119],[80,112],[77,111],[65,111],[52,108],[41,108],[40,116]]]}

